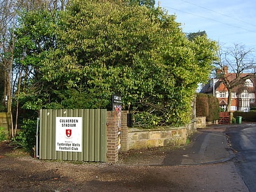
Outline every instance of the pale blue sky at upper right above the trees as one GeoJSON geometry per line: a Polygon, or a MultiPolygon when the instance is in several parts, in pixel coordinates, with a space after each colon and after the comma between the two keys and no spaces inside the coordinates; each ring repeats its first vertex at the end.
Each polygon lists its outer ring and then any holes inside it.
{"type": "MultiPolygon", "coordinates": [[[[241,44],[256,51],[254,0],[156,0],[169,15],[176,15],[183,32],[204,31],[222,46],[241,44]]],[[[256,54],[255,54],[256,55],[256,54]]]]}

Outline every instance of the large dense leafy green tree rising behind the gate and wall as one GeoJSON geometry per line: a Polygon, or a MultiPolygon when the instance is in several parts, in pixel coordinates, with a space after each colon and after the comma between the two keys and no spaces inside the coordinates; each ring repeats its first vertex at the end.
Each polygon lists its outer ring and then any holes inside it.
{"type": "Polygon", "coordinates": [[[24,107],[111,108],[118,93],[137,125],[188,123],[215,41],[188,40],[174,15],[124,2],[73,0],[58,14],[23,15],[17,49],[33,73],[24,107]]]}

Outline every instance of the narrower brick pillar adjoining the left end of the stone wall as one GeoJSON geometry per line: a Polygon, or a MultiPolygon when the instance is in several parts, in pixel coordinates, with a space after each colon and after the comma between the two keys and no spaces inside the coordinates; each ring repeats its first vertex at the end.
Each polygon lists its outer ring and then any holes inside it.
{"type": "Polygon", "coordinates": [[[128,151],[128,127],[127,127],[127,113],[128,111],[122,111],[121,115],[121,151],[128,151]]]}

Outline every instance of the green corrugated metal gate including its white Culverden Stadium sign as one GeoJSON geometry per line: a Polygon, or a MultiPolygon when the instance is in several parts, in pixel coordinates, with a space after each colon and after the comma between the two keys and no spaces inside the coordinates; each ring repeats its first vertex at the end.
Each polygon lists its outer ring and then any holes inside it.
{"type": "Polygon", "coordinates": [[[39,158],[107,161],[107,110],[40,110],[39,158]]]}

